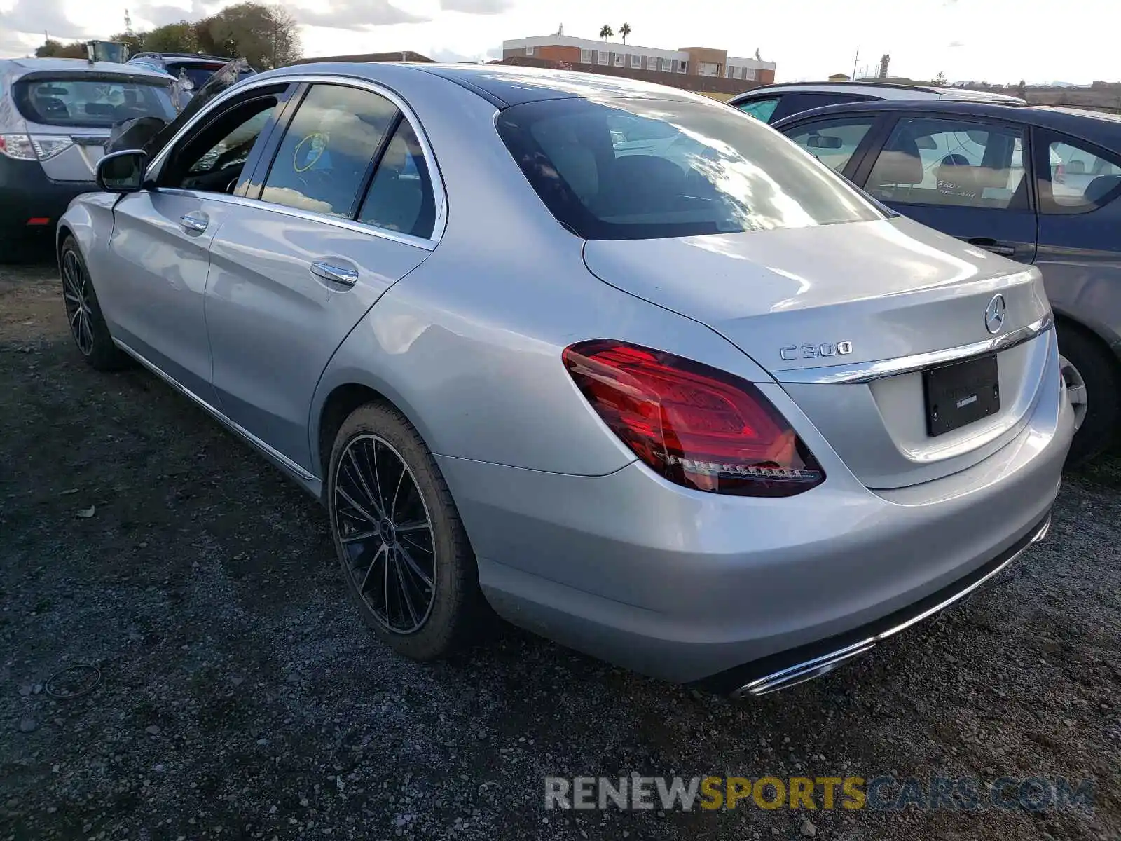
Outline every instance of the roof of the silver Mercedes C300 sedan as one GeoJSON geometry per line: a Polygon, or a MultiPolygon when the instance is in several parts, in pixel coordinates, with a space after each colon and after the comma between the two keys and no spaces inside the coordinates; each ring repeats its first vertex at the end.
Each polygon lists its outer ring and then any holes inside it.
{"type": "MultiPolygon", "coordinates": [[[[576,71],[555,71],[540,67],[516,67],[500,64],[435,64],[401,62],[327,62],[299,64],[269,71],[262,76],[287,76],[306,73],[327,73],[378,81],[379,68],[408,68],[428,73],[474,91],[498,108],[518,105],[549,99],[582,99],[589,96],[632,96],[660,100],[703,99],[677,87],[639,82],[619,76],[603,76],[576,71]]],[[[707,100],[711,101],[711,100],[707,100]]]]}

